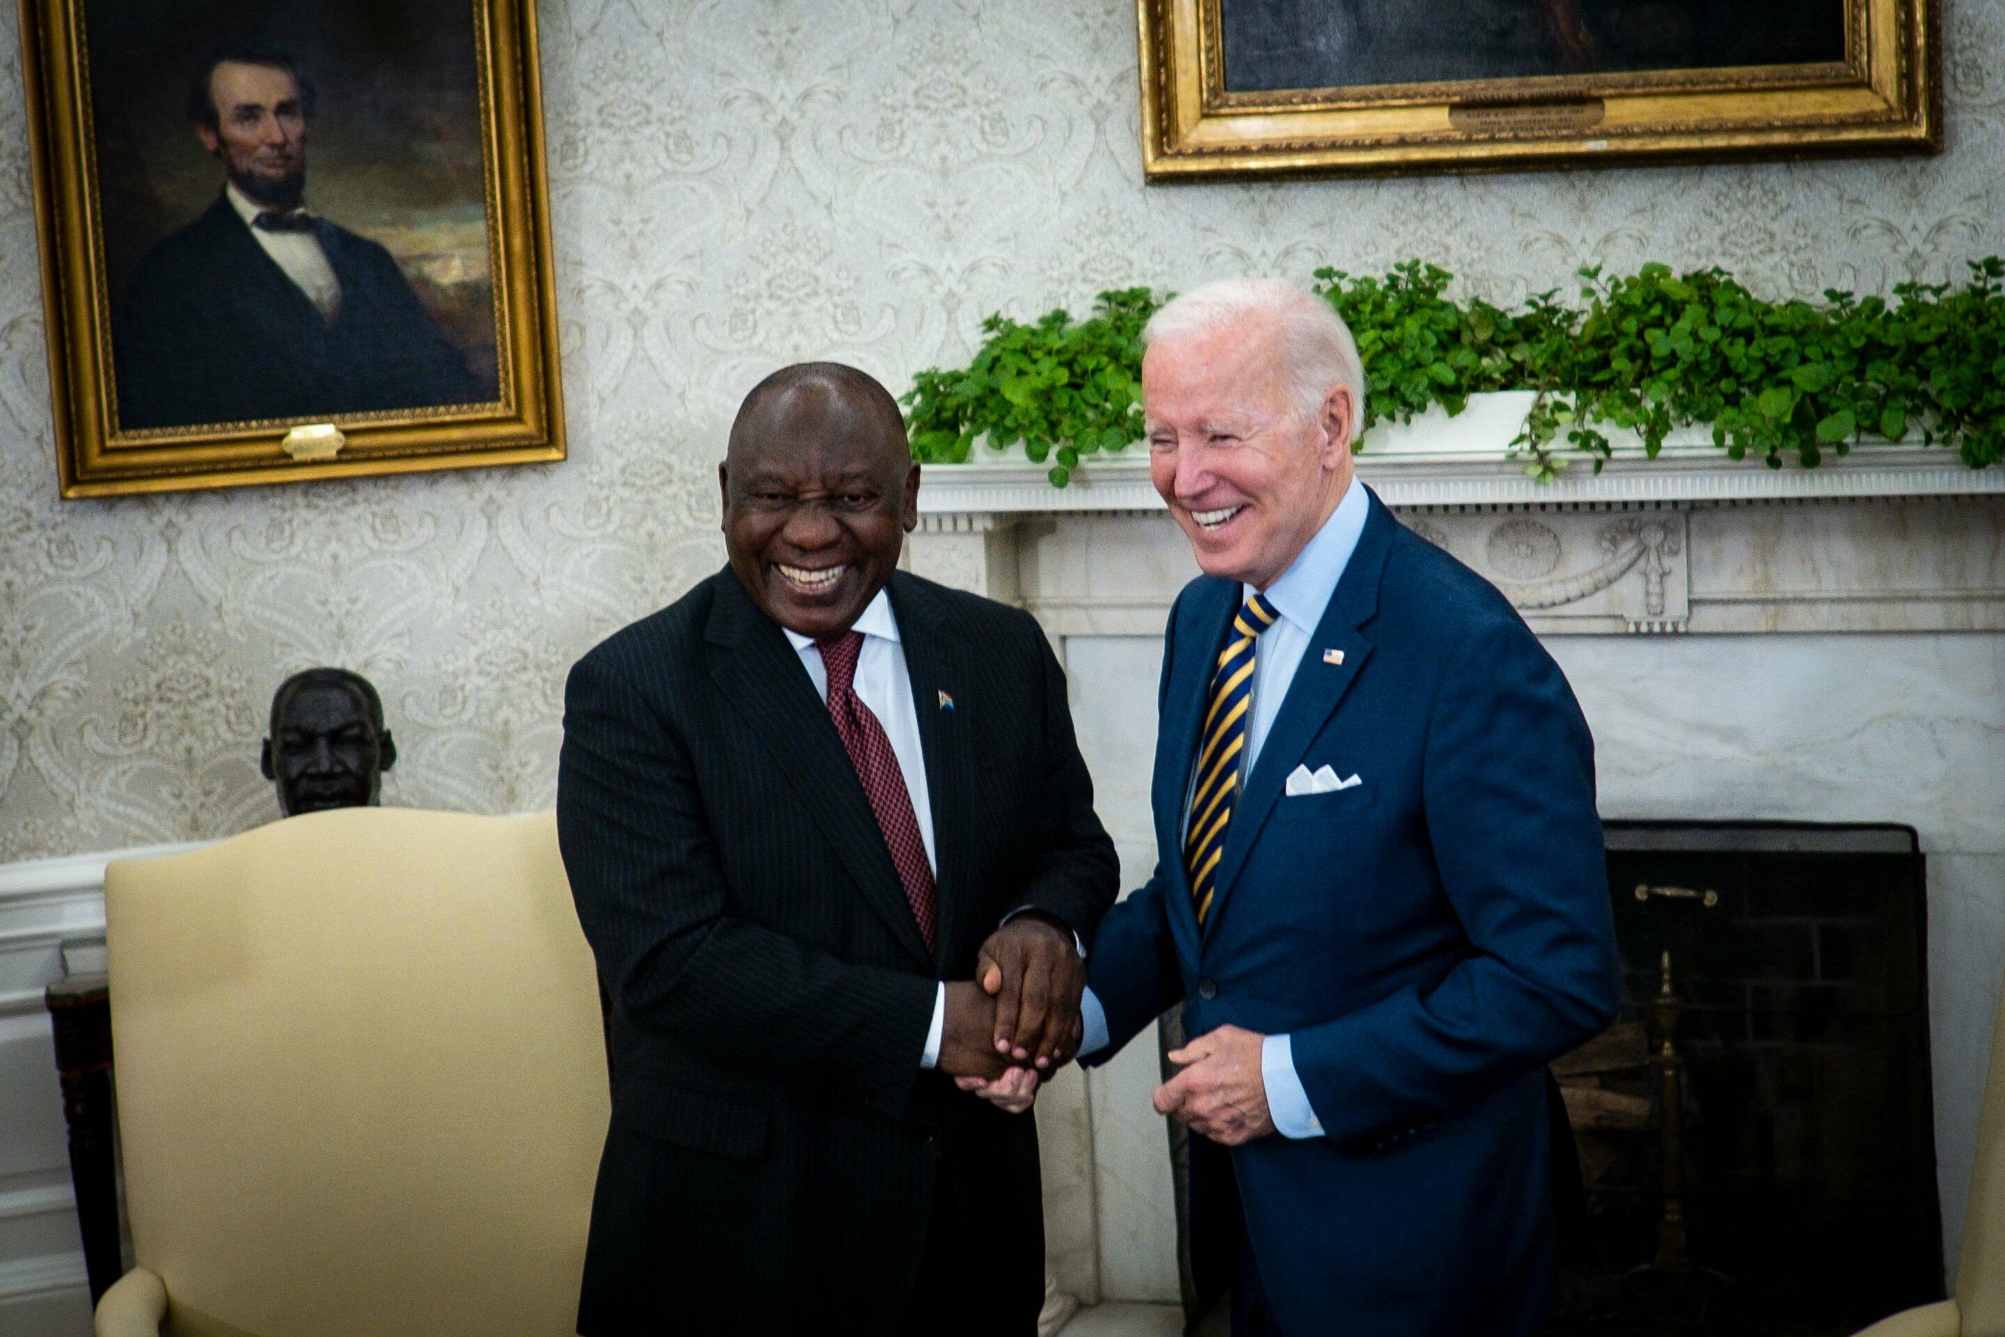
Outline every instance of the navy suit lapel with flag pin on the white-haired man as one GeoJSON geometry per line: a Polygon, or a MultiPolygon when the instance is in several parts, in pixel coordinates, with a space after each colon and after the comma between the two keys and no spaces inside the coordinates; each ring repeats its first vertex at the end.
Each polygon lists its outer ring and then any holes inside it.
{"type": "Polygon", "coordinates": [[[1273,718],[1273,728],[1261,744],[1253,774],[1245,780],[1239,806],[1233,808],[1231,826],[1225,832],[1225,852],[1219,858],[1217,894],[1211,904],[1211,922],[1219,922],[1219,912],[1233,880],[1247,862],[1253,840],[1273,814],[1287,774],[1301,766],[1309,744],[1323,732],[1329,716],[1343,702],[1343,694],[1357,682],[1357,672],[1371,657],[1371,641],[1359,631],[1377,613],[1377,587],[1385,573],[1385,555],[1391,551],[1391,537],[1397,521],[1391,511],[1371,495],[1371,513],[1357,539],[1343,577],[1335,593],[1323,607],[1323,617],[1309,637],[1309,647],[1301,651],[1295,680],[1281,700],[1281,710],[1273,718]],[[1341,661],[1329,663],[1325,651],[1339,651],[1341,661]]]}

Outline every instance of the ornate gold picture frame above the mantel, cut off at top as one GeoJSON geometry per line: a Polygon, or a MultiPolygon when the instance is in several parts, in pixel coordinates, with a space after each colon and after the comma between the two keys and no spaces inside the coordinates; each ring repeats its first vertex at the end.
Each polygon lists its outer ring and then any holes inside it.
{"type": "MultiPolygon", "coordinates": [[[[1225,10],[1239,2],[1137,0],[1147,180],[1943,148],[1937,0],[1831,0],[1839,60],[1233,90],[1225,10]]],[[[1434,12],[1466,22],[1460,6],[1434,12]]]]}

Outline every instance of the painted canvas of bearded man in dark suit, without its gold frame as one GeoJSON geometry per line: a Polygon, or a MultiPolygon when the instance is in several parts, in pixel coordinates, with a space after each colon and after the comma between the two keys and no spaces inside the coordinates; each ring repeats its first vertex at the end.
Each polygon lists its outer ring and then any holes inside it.
{"type": "Polygon", "coordinates": [[[82,20],[120,431],[497,399],[475,6],[82,20]]]}

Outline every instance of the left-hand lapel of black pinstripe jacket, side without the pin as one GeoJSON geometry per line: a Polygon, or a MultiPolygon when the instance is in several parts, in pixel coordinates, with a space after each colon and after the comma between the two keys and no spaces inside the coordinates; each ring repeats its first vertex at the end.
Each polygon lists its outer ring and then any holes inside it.
{"type": "Polygon", "coordinates": [[[814,682],[786,635],[758,611],[728,569],[718,577],[706,639],[718,647],[710,655],[712,682],[766,744],[800,796],[802,810],[828,836],[870,908],[930,968],[926,938],[912,918],[876,814],[842,738],[836,736],[828,706],[816,696],[814,682]]]}

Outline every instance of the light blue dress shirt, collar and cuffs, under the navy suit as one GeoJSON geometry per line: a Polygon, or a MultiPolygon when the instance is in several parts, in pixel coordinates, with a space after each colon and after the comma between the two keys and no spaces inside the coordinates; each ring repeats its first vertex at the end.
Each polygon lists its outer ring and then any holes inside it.
{"type": "MultiPolygon", "coordinates": [[[[1247,710],[1243,774],[1253,774],[1253,766],[1259,762],[1267,730],[1281,714],[1281,702],[1287,698],[1289,684],[1295,682],[1301,655],[1315,637],[1315,625],[1323,619],[1323,609],[1335,595],[1337,581],[1343,579],[1343,569],[1351,563],[1351,553],[1357,551],[1357,539],[1363,537],[1369,513],[1371,497],[1365,493],[1365,485],[1351,475],[1351,485],[1337,501],[1337,509],[1295,555],[1287,571],[1267,589],[1245,587],[1247,599],[1265,593],[1279,617],[1261,631],[1253,649],[1253,706],[1247,710]]],[[[1097,1048],[1107,1048],[1107,1010],[1091,988],[1081,998],[1079,1012],[1085,1020],[1079,1052],[1091,1054],[1097,1048]]],[[[1309,1092],[1303,1090],[1301,1076],[1295,1072],[1293,1040],[1285,1034],[1267,1036],[1261,1042],[1259,1066],[1275,1131],[1283,1137],[1321,1137],[1323,1125],[1309,1106],[1309,1092]]]]}

